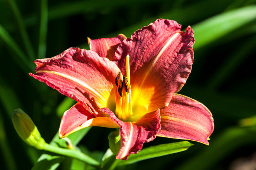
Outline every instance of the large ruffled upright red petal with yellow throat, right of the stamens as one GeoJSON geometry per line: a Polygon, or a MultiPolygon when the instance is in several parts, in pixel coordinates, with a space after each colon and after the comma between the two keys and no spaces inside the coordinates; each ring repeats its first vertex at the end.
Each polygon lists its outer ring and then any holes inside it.
{"type": "Polygon", "coordinates": [[[172,94],[182,88],[190,74],[193,44],[194,33],[190,27],[183,33],[181,25],[163,19],[123,40],[115,59],[120,59],[118,66],[125,76],[126,56],[130,56],[133,100],[142,106],[147,104],[148,112],[168,106],[172,94]]]}

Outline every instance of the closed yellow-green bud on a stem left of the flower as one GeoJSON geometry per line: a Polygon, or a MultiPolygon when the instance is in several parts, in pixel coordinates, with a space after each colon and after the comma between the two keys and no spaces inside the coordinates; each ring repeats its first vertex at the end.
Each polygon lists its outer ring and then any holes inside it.
{"type": "Polygon", "coordinates": [[[15,109],[12,112],[12,124],[18,135],[28,145],[42,149],[45,140],[41,137],[37,126],[33,123],[30,117],[21,109],[15,109]]]}

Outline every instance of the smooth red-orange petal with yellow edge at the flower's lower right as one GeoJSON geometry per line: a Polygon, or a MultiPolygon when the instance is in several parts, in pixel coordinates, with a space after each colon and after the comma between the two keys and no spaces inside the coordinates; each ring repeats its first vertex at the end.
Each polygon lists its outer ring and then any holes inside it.
{"type": "Polygon", "coordinates": [[[158,136],[189,139],[209,144],[214,124],[210,111],[200,102],[173,94],[168,107],[160,110],[161,129],[158,136]]]}

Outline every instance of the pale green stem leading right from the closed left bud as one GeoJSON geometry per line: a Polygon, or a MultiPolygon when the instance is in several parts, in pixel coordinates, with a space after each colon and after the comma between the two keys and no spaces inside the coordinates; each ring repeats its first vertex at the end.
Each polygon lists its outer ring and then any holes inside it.
{"type": "Polygon", "coordinates": [[[52,145],[49,145],[48,143],[45,143],[43,150],[49,151],[49,152],[53,152],[53,153],[57,153],[60,155],[64,155],[64,156],[68,156],[68,157],[72,157],[81,161],[84,161],[90,165],[94,165],[94,166],[100,166],[100,163],[85,155],[84,153],[75,150],[75,149],[66,149],[66,148],[61,148],[61,147],[55,147],[52,145]]]}

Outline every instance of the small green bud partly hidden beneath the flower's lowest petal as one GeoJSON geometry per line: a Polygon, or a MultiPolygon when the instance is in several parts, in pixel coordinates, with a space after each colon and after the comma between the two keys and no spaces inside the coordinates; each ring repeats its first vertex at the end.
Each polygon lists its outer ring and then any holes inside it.
{"type": "Polygon", "coordinates": [[[121,138],[120,134],[117,131],[113,131],[109,135],[109,146],[110,150],[113,152],[113,154],[117,154],[119,152],[119,149],[121,147],[121,138]]]}

